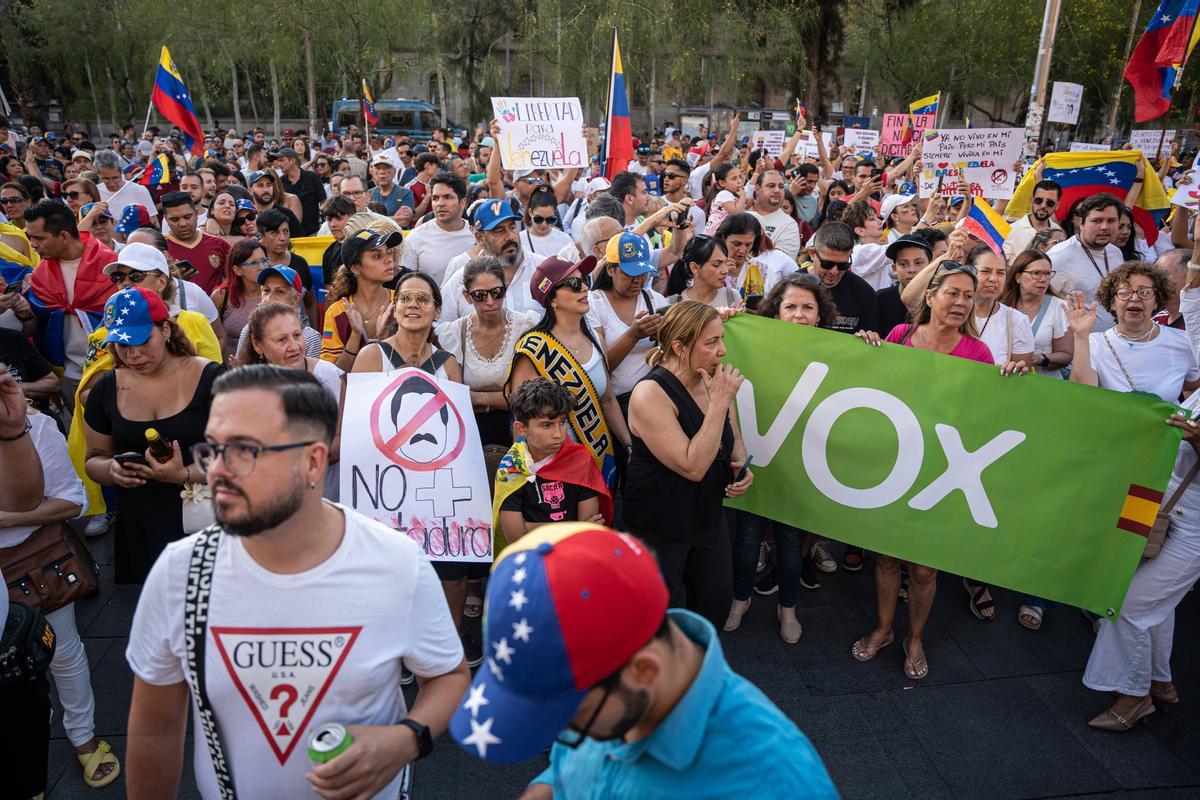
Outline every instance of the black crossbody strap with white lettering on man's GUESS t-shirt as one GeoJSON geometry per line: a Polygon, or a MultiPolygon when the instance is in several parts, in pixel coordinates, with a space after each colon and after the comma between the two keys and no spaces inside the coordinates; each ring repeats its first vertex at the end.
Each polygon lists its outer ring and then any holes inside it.
{"type": "Polygon", "coordinates": [[[192,548],[192,560],[187,566],[187,595],[184,603],[184,640],[187,646],[187,682],[192,688],[198,709],[197,716],[204,730],[204,742],[209,746],[209,758],[217,776],[221,800],[236,800],[233,774],[226,760],[217,718],[209,704],[209,692],[204,674],[204,654],[209,632],[209,597],[212,594],[212,572],[216,567],[221,528],[212,525],[200,531],[192,548]]]}

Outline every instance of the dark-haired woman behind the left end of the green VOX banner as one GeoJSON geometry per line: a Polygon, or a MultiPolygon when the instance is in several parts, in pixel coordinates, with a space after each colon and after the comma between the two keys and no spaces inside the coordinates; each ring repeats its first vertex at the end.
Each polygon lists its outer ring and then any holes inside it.
{"type": "MultiPolygon", "coordinates": [[[[778,319],[793,325],[828,327],[838,318],[838,306],[821,278],[808,272],[796,272],[781,278],[756,312],[761,317],[778,319]]],[[[784,523],[750,513],[733,511],[733,604],[725,621],[726,631],[736,631],[742,618],[750,609],[750,593],[758,571],[760,549],[767,525],[774,524],[775,534],[775,585],[779,587],[779,636],[787,644],[800,640],[800,622],[796,619],[796,601],[800,588],[820,589],[812,558],[808,555],[817,539],[812,534],[784,523]]]]}

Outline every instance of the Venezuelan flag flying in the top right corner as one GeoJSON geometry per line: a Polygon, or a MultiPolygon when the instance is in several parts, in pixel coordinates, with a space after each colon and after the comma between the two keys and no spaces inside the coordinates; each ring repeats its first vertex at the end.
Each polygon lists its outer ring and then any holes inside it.
{"type": "Polygon", "coordinates": [[[1198,6],[1200,0],[1162,0],[1138,40],[1124,70],[1138,122],[1158,119],[1170,108],[1176,72],[1200,32],[1193,30],[1198,6]]]}

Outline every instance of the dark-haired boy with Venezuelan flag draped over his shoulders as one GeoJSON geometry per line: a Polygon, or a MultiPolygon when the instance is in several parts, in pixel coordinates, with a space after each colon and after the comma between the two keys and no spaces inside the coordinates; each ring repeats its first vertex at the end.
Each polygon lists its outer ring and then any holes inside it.
{"type": "Polygon", "coordinates": [[[509,398],[516,444],[496,470],[493,516],[512,543],[547,522],[612,524],[612,497],[592,451],[568,437],[575,397],[538,378],[509,398]]]}

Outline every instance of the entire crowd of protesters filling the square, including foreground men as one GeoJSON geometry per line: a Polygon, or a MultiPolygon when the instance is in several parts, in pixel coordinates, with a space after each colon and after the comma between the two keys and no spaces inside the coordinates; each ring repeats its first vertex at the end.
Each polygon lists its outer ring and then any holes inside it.
{"type": "MultiPolygon", "coordinates": [[[[43,790],[48,672],[83,780],[124,774],[134,798],[178,793],[190,704],[206,798],[394,798],[448,728],[493,760],[553,744],[528,798],[584,796],[577,782],[599,770],[624,794],[586,796],[835,796],[716,632],[774,595],[797,645],[803,593],[874,560],[878,619],[846,650],[868,661],[902,636],[900,669],[920,680],[937,668],[924,644],[937,572],[724,507],[754,485],[725,324],[758,314],[1194,414],[1200,236],[1183,209],[1139,228],[1132,197],[1058,215],[1062,187],[1038,180],[994,248],[959,224],[965,185],[917,197],[919,142],[876,163],[816,136],[809,156],[797,122],[779,156],[751,150],[737,119],[724,136],[665,128],[606,179],[595,160],[504,169],[494,122],[427,142],[220,131],[196,156],[176,131],[95,142],[0,119],[0,470],[20,479],[0,483],[0,570],[78,518],[84,542],[113,536],[115,582],[143,587],[125,753],[95,735],[73,604],[46,608],[53,658],[0,684],[20,734],[0,734],[6,792],[43,790]],[[318,236],[319,260],[295,252],[318,236]],[[346,374],[404,367],[469,389],[496,476],[491,573],[430,561],[335,504],[342,431],[362,423],[341,414],[346,374]],[[563,522],[583,527],[547,527],[563,522]],[[197,570],[208,622],[193,619],[197,570]],[[566,607],[584,583],[602,610],[581,627],[566,607]],[[510,636],[467,630],[485,608],[510,636]],[[349,609],[362,643],[324,703],[354,744],[317,766],[304,746],[272,752],[205,625],[332,630],[349,609]],[[574,741],[556,742],[566,729],[574,741]]],[[[1146,169],[1183,174],[1174,158],[1146,169]]],[[[1096,621],[1084,674],[1112,696],[1088,723],[1106,730],[1180,702],[1170,655],[1174,609],[1200,578],[1200,433],[1188,414],[1170,423],[1184,433],[1170,536],[1121,615],[1096,621]]],[[[982,622],[1006,613],[1037,631],[1051,608],[1000,608],[971,576],[964,590],[982,622]]]]}

